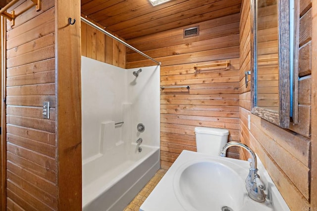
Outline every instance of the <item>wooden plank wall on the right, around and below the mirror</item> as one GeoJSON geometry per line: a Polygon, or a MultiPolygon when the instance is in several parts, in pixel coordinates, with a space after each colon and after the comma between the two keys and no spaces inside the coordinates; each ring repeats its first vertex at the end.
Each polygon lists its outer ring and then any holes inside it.
{"type": "MultiPolygon", "coordinates": [[[[301,0],[299,124],[281,129],[251,114],[250,86],[244,72],[250,70],[250,0],[243,0],[240,21],[240,139],[255,149],[291,210],[308,210],[310,200],[311,110],[311,1],[301,0]],[[306,52],[306,53],[304,53],[306,52]],[[251,115],[251,130],[248,130],[251,115]],[[295,131],[296,133],[294,133],[295,131]]],[[[248,155],[241,153],[242,158],[248,155]]]]}

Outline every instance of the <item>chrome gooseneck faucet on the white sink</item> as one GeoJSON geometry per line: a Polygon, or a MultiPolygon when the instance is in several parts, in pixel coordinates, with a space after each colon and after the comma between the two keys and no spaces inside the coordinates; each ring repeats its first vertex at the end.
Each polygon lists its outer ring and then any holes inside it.
{"type": "Polygon", "coordinates": [[[264,202],[265,201],[265,194],[264,194],[264,184],[260,180],[260,176],[258,174],[257,168],[257,156],[249,147],[241,142],[228,142],[225,144],[220,151],[219,155],[221,157],[226,156],[227,149],[232,146],[242,147],[249,152],[251,155],[251,162],[249,168],[249,175],[246,178],[246,189],[248,191],[249,197],[257,202],[264,202]]]}

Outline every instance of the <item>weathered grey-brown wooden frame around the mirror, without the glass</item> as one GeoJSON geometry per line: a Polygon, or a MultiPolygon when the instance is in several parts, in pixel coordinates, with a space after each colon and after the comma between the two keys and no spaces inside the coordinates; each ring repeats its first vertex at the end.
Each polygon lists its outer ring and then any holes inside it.
{"type": "Polygon", "coordinates": [[[257,106],[257,0],[251,0],[251,112],[282,128],[290,123],[289,0],[278,0],[279,111],[257,106]]]}

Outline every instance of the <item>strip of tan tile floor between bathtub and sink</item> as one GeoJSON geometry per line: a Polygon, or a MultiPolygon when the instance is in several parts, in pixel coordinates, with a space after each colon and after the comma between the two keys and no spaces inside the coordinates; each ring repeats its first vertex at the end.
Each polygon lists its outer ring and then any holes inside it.
{"type": "Polygon", "coordinates": [[[141,205],[153,191],[159,180],[164,176],[166,170],[159,169],[152,179],[144,186],[144,188],[136,195],[131,203],[123,211],[139,211],[141,205]]]}

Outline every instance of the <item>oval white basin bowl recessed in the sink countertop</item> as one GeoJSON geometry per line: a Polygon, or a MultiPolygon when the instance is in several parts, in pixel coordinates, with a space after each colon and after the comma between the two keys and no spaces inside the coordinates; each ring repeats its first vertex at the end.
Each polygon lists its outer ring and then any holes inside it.
{"type": "Polygon", "coordinates": [[[176,171],[176,198],[185,210],[222,207],[240,210],[246,194],[244,180],[230,167],[214,161],[189,162],[176,171]]]}

